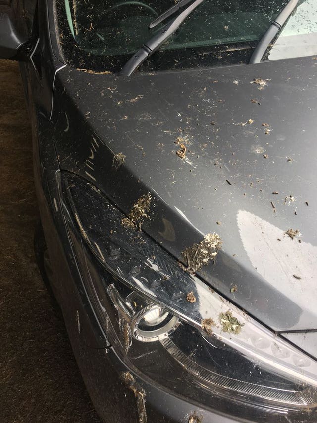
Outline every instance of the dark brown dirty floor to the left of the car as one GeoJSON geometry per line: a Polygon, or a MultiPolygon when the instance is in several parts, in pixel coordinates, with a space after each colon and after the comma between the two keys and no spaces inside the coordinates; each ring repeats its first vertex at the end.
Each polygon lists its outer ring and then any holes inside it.
{"type": "Polygon", "coordinates": [[[35,263],[31,144],[18,65],[0,60],[0,422],[99,423],[35,263]]]}

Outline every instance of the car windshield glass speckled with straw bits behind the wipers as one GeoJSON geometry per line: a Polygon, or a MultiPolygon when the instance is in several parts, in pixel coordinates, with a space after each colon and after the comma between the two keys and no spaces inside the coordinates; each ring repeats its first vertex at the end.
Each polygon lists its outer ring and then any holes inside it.
{"type": "MultiPolygon", "coordinates": [[[[248,63],[286,0],[205,0],[138,71],[248,63]]],[[[174,0],[57,0],[68,62],[92,72],[119,72],[176,15],[150,29],[174,0]]],[[[317,1],[299,0],[263,60],[317,54],[317,1]]]]}

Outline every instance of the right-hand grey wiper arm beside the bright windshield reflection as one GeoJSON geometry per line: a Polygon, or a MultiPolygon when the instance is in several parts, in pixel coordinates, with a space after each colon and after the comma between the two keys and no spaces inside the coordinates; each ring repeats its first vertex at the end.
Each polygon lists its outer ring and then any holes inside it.
{"type": "Polygon", "coordinates": [[[257,47],[252,53],[252,56],[249,62],[250,64],[261,62],[263,55],[265,53],[265,50],[267,49],[267,46],[273,40],[275,35],[281,29],[281,27],[284,25],[284,23],[289,18],[290,14],[295,9],[297,4],[298,4],[298,0],[290,0],[286,4],[286,6],[283,8],[283,10],[280,12],[280,14],[277,16],[277,18],[271,23],[270,27],[265,32],[264,36],[261,38],[257,47]]]}

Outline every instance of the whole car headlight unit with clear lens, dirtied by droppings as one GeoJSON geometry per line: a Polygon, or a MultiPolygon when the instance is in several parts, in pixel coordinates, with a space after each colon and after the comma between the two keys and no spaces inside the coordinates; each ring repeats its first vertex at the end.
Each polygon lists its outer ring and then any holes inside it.
{"type": "Polygon", "coordinates": [[[228,401],[277,414],[317,405],[315,360],[122,225],[122,213],[90,183],[63,173],[60,186],[67,226],[81,234],[70,229],[85,289],[131,368],[220,410],[228,401]]]}

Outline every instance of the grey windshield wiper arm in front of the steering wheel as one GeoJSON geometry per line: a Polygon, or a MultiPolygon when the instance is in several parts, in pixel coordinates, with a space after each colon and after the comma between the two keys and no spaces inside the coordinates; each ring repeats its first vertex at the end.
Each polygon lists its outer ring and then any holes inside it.
{"type": "MultiPolygon", "coordinates": [[[[190,6],[188,6],[182,13],[180,13],[175,19],[163,26],[163,28],[155,34],[149,41],[147,41],[141,49],[139,49],[131,59],[122,67],[120,75],[130,76],[139,66],[156,52],[159,47],[165,43],[165,41],[174,34],[175,31],[180,27],[184,20],[189,16],[197,6],[199,6],[205,0],[196,0],[190,6]]],[[[164,18],[165,19],[165,18],[164,18]]],[[[163,19],[163,20],[164,20],[163,19]]]]}

